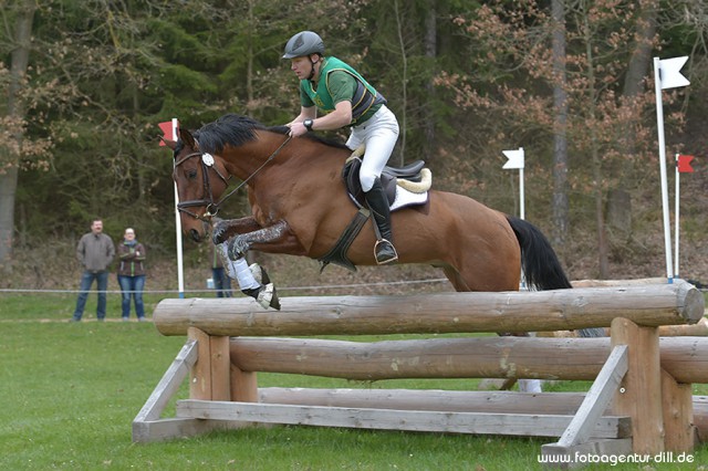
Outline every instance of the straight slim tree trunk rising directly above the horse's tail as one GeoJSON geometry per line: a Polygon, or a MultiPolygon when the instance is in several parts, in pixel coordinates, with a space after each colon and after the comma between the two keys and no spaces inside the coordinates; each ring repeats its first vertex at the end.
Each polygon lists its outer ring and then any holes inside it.
{"type": "Polygon", "coordinates": [[[553,244],[562,249],[568,237],[568,93],[565,73],[565,8],[552,1],[553,13],[553,244]]]}

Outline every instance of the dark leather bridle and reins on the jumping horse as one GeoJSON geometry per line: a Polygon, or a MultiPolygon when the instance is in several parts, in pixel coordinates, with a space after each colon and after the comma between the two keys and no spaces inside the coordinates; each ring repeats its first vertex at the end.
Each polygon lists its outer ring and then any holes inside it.
{"type": "Polygon", "coordinates": [[[192,157],[201,157],[201,179],[202,179],[202,185],[204,185],[204,197],[201,197],[201,199],[192,199],[189,201],[180,201],[177,203],[177,210],[180,212],[184,212],[185,214],[189,214],[195,219],[198,219],[200,221],[205,221],[205,222],[210,222],[210,219],[215,216],[217,216],[217,213],[219,212],[219,207],[221,205],[223,205],[223,201],[226,201],[227,199],[229,199],[233,193],[236,193],[241,187],[243,187],[243,185],[248,184],[248,181],[253,178],[256,176],[256,174],[258,174],[263,167],[266,167],[266,165],[268,165],[268,163],[270,163],[272,159],[275,158],[275,156],[280,153],[280,150],[285,147],[285,144],[288,144],[290,142],[290,139],[292,138],[292,135],[288,135],[288,137],[285,138],[285,140],[270,155],[270,157],[268,157],[266,159],[266,161],[263,164],[261,164],[260,167],[258,167],[251,175],[249,175],[249,177],[241,181],[241,185],[239,185],[238,187],[236,187],[235,189],[232,189],[231,191],[229,191],[225,197],[222,197],[219,201],[214,201],[214,193],[211,191],[211,181],[209,179],[209,168],[214,168],[214,171],[216,171],[216,174],[219,176],[219,178],[221,179],[221,181],[223,181],[223,184],[228,187],[229,186],[229,179],[231,178],[231,175],[229,175],[229,177],[225,177],[223,175],[221,175],[221,172],[219,171],[219,169],[215,166],[215,160],[214,160],[214,156],[211,154],[207,154],[207,153],[191,153],[191,154],[187,154],[185,157],[183,157],[181,159],[177,160],[175,163],[175,169],[177,169],[177,167],[179,167],[181,164],[184,164],[185,161],[187,161],[188,159],[192,158],[192,157]],[[209,197],[207,199],[207,196],[209,197]],[[194,207],[206,207],[207,210],[205,211],[204,216],[199,216],[194,211],[190,211],[186,208],[194,208],[194,207]]]}

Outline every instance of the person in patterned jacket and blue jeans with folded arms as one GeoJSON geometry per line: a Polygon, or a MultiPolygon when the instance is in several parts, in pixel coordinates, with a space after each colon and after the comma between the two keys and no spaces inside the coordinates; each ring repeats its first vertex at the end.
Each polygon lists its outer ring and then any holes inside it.
{"type": "Polygon", "coordinates": [[[145,247],[135,239],[133,228],[123,234],[123,243],[118,244],[118,284],[123,295],[123,322],[131,318],[131,296],[135,300],[135,314],[139,322],[145,321],[143,290],[145,289],[145,247]]]}

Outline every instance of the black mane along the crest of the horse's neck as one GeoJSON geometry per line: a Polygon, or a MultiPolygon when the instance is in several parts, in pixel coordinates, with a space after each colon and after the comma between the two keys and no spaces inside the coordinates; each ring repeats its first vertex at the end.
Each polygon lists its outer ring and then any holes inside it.
{"type": "MultiPolygon", "coordinates": [[[[233,147],[242,146],[249,140],[256,139],[257,129],[270,130],[287,135],[290,132],[288,126],[266,126],[253,118],[237,114],[227,114],[212,123],[205,124],[194,133],[199,143],[199,149],[205,153],[219,154],[226,145],[233,147]]],[[[340,142],[325,139],[314,134],[306,134],[306,138],[320,142],[327,146],[346,148],[340,142]]]]}

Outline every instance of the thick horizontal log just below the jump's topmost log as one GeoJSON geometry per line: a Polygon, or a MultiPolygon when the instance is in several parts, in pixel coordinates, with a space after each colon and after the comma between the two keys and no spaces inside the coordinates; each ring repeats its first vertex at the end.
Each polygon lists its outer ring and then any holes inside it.
{"type": "MultiPolygon", "coordinates": [[[[659,341],[660,365],[678,383],[708,383],[704,337],[659,341]]],[[[594,380],[610,338],[475,337],[385,342],[316,338],[231,338],[242,371],[289,373],[356,380],[522,378],[594,380]]]]}

